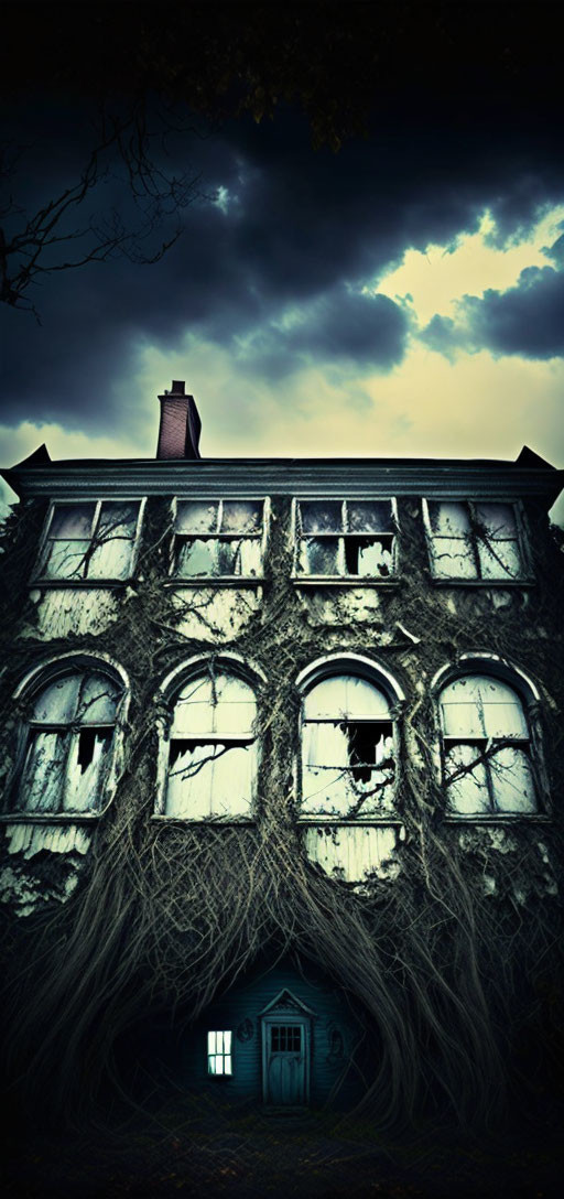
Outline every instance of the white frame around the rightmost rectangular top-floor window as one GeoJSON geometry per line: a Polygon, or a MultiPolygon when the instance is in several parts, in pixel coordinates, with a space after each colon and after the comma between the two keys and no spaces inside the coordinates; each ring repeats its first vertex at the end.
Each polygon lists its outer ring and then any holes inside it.
{"type": "Polygon", "coordinates": [[[508,499],[507,496],[492,496],[492,495],[489,495],[489,496],[485,496],[485,498],[473,496],[473,498],[465,498],[465,499],[461,499],[460,496],[445,496],[445,495],[435,496],[435,495],[429,495],[429,496],[423,496],[422,498],[422,512],[423,512],[423,524],[424,524],[424,529],[425,529],[425,540],[426,540],[426,544],[427,544],[429,565],[430,565],[430,570],[431,570],[431,578],[432,578],[432,582],[435,584],[437,584],[438,586],[445,585],[445,586],[463,586],[463,588],[477,588],[477,586],[478,588],[498,588],[498,586],[511,588],[511,586],[524,586],[524,585],[530,586],[534,583],[532,562],[530,562],[530,553],[529,553],[529,548],[528,548],[529,547],[528,531],[527,531],[527,526],[526,526],[526,520],[524,520],[524,513],[523,513],[523,510],[522,510],[522,505],[521,505],[521,502],[518,500],[516,500],[516,499],[508,499]],[[481,567],[480,567],[480,560],[479,560],[479,552],[478,552],[478,546],[477,546],[477,538],[474,536],[472,536],[472,532],[471,532],[471,544],[468,547],[468,553],[469,553],[471,559],[473,559],[473,565],[474,565],[474,568],[475,568],[477,573],[474,576],[472,576],[472,577],[468,577],[468,578],[449,577],[448,574],[439,574],[437,572],[437,568],[436,568],[436,558],[435,558],[435,540],[436,540],[436,535],[432,531],[431,513],[430,513],[430,510],[429,510],[429,505],[430,504],[457,504],[457,505],[460,505],[461,507],[466,508],[466,511],[469,513],[471,525],[472,525],[472,523],[474,523],[477,520],[475,511],[474,511],[477,505],[487,506],[489,504],[492,504],[492,505],[495,504],[495,505],[507,505],[508,507],[510,507],[513,510],[514,518],[515,518],[515,530],[516,530],[515,541],[516,541],[516,544],[517,544],[517,553],[518,553],[518,558],[520,558],[520,562],[521,562],[520,574],[516,576],[516,577],[510,577],[510,576],[505,574],[505,576],[499,576],[499,577],[490,578],[490,579],[489,578],[484,578],[480,574],[481,567]]]}

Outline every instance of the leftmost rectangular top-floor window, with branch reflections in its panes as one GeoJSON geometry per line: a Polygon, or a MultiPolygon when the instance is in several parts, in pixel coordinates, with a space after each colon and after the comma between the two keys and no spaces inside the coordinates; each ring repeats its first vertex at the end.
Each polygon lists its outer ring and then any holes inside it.
{"type": "Polygon", "coordinates": [[[139,500],[54,504],[36,578],[69,583],[129,578],[139,512],[139,500]]]}

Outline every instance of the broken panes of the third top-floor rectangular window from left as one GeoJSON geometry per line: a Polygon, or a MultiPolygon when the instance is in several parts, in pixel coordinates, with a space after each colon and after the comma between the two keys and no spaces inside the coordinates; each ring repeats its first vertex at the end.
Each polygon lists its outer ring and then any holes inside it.
{"type": "Polygon", "coordinates": [[[297,572],[382,580],[395,571],[392,500],[299,500],[297,572]]]}

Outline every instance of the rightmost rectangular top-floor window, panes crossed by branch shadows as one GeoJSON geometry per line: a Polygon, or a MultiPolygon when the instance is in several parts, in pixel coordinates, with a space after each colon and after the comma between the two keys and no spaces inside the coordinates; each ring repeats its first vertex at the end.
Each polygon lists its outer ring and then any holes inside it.
{"type": "Polygon", "coordinates": [[[424,500],[436,579],[515,582],[524,576],[513,504],[424,500]]]}

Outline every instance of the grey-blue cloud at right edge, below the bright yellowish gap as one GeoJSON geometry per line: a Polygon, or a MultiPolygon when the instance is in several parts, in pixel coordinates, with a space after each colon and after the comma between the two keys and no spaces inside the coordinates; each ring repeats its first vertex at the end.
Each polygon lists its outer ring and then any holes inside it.
{"type": "Polygon", "coordinates": [[[564,271],[529,266],[514,288],[465,296],[456,320],[433,317],[422,337],[447,356],[456,349],[527,359],[564,355],[564,271]]]}

